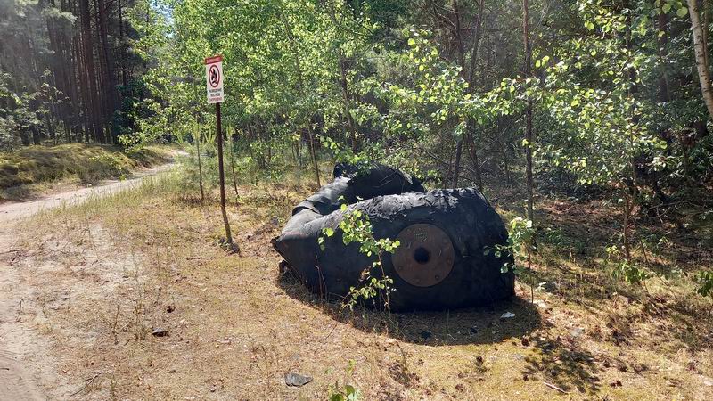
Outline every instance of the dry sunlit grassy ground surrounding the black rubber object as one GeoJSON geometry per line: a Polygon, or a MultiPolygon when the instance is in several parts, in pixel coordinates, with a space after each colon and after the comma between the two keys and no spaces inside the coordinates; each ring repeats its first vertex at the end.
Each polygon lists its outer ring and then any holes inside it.
{"type": "MultiPolygon", "coordinates": [[[[177,174],[2,225],[0,346],[39,397],[324,399],[351,385],[389,400],[713,398],[713,308],[689,277],[713,252],[695,233],[645,256],[680,278],[629,286],[603,252],[619,217],[544,199],[534,303],[520,282],[488,308],[350,312],[278,274],[270,240],[314,191],[308,176],[231,194],[230,255],[217,202],[177,174]],[[288,387],[288,372],[314,381],[288,387]]],[[[522,199],[488,194],[504,218],[522,199]]]]}

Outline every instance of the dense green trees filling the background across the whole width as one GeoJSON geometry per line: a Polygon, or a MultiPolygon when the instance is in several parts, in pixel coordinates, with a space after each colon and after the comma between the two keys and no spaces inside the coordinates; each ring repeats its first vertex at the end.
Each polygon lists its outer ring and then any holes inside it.
{"type": "Polygon", "coordinates": [[[187,135],[223,53],[261,164],[322,141],[482,186],[531,151],[663,200],[711,173],[708,4],[688,3],[3,0],[0,144],[187,135]]]}

